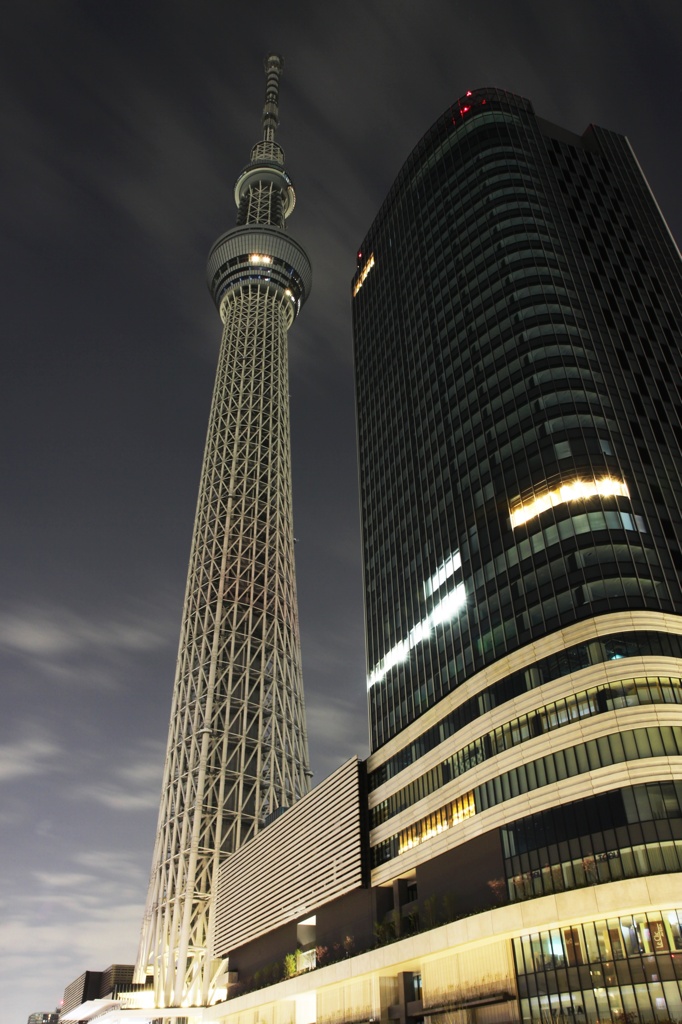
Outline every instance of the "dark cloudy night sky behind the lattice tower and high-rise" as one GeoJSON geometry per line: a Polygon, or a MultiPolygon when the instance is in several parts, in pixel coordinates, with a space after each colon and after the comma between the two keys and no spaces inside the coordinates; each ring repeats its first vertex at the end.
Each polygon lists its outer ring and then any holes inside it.
{"type": "Polygon", "coordinates": [[[15,0],[0,25],[2,1021],[135,956],[220,324],[204,281],[286,58],[315,778],[367,752],[349,281],[468,88],[630,137],[679,238],[679,0],[15,0]]]}

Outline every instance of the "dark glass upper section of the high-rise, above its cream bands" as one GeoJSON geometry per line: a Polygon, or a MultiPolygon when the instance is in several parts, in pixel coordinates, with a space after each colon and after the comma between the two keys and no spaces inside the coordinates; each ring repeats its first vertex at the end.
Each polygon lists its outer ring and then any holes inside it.
{"type": "Polygon", "coordinates": [[[488,89],[414,150],[353,290],[377,751],[567,624],[682,612],[679,257],[626,139],[488,89]]]}

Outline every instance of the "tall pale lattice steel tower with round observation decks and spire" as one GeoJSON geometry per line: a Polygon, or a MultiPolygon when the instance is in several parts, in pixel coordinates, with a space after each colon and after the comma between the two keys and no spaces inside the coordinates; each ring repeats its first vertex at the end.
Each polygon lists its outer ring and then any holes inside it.
{"type": "Polygon", "coordinates": [[[295,194],[274,141],[282,69],[266,58],[263,136],[235,186],[237,227],[208,258],[224,329],[136,975],[154,975],[158,1007],[211,1001],[219,863],[309,786],[287,332],[311,271],[285,229],[295,194]]]}

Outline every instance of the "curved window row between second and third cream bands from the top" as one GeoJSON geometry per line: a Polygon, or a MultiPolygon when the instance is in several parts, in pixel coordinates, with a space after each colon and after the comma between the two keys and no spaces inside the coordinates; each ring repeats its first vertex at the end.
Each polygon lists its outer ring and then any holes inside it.
{"type": "Polygon", "coordinates": [[[593,686],[580,693],[537,708],[527,715],[501,725],[493,732],[474,739],[445,758],[440,764],[424,772],[419,778],[391,794],[370,810],[370,827],[376,828],[407,807],[418,803],[431,793],[459,778],[465,772],[489,758],[517,746],[534,736],[553,732],[564,725],[571,725],[586,718],[593,718],[617,708],[631,708],[649,703],[682,705],[682,680],[670,677],[628,679],[612,684],[593,686]]]}

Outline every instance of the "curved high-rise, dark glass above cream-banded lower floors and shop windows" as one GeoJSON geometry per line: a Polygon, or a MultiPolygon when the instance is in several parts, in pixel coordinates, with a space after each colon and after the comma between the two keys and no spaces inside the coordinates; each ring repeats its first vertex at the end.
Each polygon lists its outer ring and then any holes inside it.
{"type": "Polygon", "coordinates": [[[682,867],[680,285],[627,139],[496,89],[357,254],[372,883],[396,920],[602,884],[641,911],[519,931],[528,1019],[682,1015],[679,920],[632,889],[682,867]]]}

